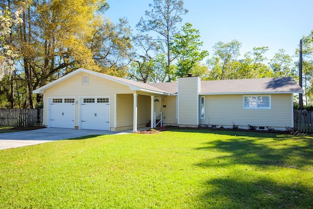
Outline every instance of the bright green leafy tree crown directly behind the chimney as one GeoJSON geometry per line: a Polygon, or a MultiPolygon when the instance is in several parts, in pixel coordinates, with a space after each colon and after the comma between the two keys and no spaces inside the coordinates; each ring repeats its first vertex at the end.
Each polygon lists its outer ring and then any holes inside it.
{"type": "Polygon", "coordinates": [[[203,42],[200,41],[200,32],[192,28],[191,23],[181,27],[183,34],[174,35],[174,41],[170,42],[170,49],[177,59],[177,76],[185,77],[190,73],[195,64],[208,56],[206,50],[200,49],[203,42]]]}

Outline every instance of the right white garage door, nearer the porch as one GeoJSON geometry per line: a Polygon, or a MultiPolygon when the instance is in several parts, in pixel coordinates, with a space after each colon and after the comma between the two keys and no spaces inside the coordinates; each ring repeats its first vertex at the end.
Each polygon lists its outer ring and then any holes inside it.
{"type": "Polygon", "coordinates": [[[81,98],[81,129],[110,131],[110,101],[108,97],[81,98]]]}

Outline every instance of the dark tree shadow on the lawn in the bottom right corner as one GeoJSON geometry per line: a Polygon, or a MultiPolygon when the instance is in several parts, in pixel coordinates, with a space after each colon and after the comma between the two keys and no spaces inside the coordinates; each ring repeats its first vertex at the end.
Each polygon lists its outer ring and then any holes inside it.
{"type": "Polygon", "coordinates": [[[205,208],[259,209],[312,208],[312,190],[302,185],[279,185],[267,179],[257,181],[218,178],[207,181],[201,198],[205,208]]]}

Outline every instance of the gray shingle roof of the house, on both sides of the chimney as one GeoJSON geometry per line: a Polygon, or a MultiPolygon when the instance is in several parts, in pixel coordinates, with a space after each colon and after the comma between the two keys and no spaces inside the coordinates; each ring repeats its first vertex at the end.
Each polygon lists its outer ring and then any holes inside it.
{"type": "MultiPolygon", "coordinates": [[[[81,72],[88,72],[112,81],[129,86],[132,90],[160,94],[175,94],[178,92],[178,83],[140,83],[137,81],[102,74],[86,69],[75,70],[56,81],[53,81],[33,93],[44,93],[46,89],[57,85],[64,80],[81,72]]],[[[257,78],[238,80],[201,81],[200,94],[242,94],[242,93],[303,93],[302,88],[291,77],[257,78]]]]}

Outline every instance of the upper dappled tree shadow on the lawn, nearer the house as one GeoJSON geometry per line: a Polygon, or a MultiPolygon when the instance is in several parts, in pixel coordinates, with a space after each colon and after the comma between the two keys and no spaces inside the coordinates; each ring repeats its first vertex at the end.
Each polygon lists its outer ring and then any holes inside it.
{"type": "MultiPolygon", "coordinates": [[[[313,140],[299,141],[299,144],[288,145],[285,147],[276,148],[274,142],[259,141],[262,138],[237,137],[236,139],[215,140],[207,142],[205,147],[197,149],[217,149],[222,152],[227,152],[228,155],[218,157],[216,159],[205,159],[198,166],[224,166],[228,164],[248,164],[248,165],[274,165],[283,167],[292,167],[301,169],[303,166],[313,166],[313,140]],[[256,143],[258,141],[258,143],[256,143]]],[[[282,140],[277,138],[274,140],[282,140]]],[[[301,139],[299,139],[301,140],[301,139]]],[[[281,143],[277,146],[284,146],[281,143]]]]}

